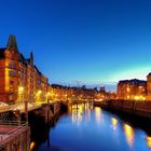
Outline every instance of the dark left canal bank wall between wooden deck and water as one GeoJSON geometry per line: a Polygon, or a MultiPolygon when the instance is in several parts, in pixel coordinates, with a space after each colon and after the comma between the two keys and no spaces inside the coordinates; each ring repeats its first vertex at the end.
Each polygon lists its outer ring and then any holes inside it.
{"type": "MultiPolygon", "coordinates": [[[[51,127],[54,127],[57,120],[67,107],[61,102],[51,104],[50,106],[43,105],[40,110],[31,111],[28,113],[30,135],[30,151],[38,151],[39,145],[46,141],[51,127]]],[[[49,141],[47,141],[47,146],[49,141]]]]}

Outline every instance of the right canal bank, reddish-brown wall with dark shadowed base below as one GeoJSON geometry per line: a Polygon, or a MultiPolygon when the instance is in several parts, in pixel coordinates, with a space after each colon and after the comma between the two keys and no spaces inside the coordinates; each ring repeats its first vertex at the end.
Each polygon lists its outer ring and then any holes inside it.
{"type": "Polygon", "coordinates": [[[151,136],[151,108],[148,105],[151,105],[151,102],[136,102],[134,100],[129,102],[126,100],[108,100],[101,102],[94,101],[95,107],[101,107],[101,109],[118,115],[121,120],[129,123],[135,127],[143,129],[149,136],[151,136]],[[146,107],[148,110],[146,110],[146,107]]]}

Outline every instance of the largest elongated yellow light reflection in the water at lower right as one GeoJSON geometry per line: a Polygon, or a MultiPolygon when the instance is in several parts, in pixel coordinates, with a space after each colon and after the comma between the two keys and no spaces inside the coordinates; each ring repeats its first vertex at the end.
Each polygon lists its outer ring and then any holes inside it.
{"type": "Polygon", "coordinates": [[[135,135],[134,129],[128,124],[124,124],[123,129],[126,136],[127,143],[132,147],[134,143],[134,135],[135,135]]]}

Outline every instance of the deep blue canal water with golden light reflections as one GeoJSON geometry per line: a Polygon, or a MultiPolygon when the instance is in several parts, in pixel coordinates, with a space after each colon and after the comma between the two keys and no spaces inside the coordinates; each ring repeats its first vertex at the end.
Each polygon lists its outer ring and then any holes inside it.
{"type": "Polygon", "coordinates": [[[50,129],[39,150],[151,151],[151,136],[100,107],[74,105],[50,129]]]}

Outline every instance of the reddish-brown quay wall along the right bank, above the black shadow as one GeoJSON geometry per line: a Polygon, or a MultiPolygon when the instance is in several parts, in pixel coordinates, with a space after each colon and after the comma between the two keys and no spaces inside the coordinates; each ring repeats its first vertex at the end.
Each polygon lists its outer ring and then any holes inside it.
{"type": "Polygon", "coordinates": [[[132,115],[138,115],[141,118],[151,120],[151,101],[136,101],[136,100],[102,100],[95,101],[95,106],[100,106],[105,109],[111,109],[115,111],[121,111],[132,115]]]}

